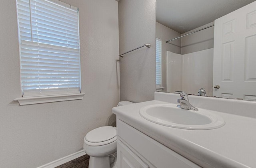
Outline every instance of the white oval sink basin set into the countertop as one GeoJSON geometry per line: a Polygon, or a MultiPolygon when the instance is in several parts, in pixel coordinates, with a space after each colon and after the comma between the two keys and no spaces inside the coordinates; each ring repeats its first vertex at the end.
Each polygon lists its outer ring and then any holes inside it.
{"type": "Polygon", "coordinates": [[[174,128],[206,130],[219,128],[225,124],[222,117],[204,110],[186,110],[176,107],[174,104],[149,105],[140,109],[140,115],[164,126],[174,128]]]}

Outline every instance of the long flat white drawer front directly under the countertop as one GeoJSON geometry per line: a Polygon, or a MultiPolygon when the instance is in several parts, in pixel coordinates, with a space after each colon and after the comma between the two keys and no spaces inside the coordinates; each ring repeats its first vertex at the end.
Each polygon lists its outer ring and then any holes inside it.
{"type": "Polygon", "coordinates": [[[117,135],[118,139],[128,144],[131,150],[138,152],[157,168],[201,168],[119,119],[117,120],[117,135]]]}

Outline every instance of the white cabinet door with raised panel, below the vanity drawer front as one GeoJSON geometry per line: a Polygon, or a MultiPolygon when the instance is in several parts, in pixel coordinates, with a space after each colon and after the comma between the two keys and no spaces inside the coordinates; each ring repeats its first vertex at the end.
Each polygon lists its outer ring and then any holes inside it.
{"type": "Polygon", "coordinates": [[[117,167],[118,168],[149,168],[132,150],[117,140],[117,167]]]}

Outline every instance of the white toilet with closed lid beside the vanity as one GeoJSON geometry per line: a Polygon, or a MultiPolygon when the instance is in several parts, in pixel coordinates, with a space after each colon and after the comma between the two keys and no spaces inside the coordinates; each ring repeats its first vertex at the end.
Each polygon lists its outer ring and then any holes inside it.
{"type": "MultiPolygon", "coordinates": [[[[133,104],[120,101],[118,106],[133,104]]],[[[95,128],[84,137],[84,152],[90,156],[89,168],[116,168],[116,127],[95,128]]]]}

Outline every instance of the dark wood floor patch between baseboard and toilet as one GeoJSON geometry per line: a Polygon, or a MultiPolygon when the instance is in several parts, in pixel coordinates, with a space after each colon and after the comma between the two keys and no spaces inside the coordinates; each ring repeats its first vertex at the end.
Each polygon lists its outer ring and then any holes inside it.
{"type": "Polygon", "coordinates": [[[90,156],[86,154],[69,162],[66,162],[60,166],[57,166],[56,168],[88,168],[89,158],[90,156]]]}

